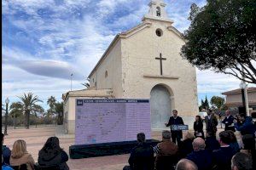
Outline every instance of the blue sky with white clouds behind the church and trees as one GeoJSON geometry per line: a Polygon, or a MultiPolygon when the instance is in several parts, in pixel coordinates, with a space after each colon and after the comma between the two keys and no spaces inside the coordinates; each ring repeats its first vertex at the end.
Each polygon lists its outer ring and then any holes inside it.
{"type": "MultiPolygon", "coordinates": [[[[50,95],[84,88],[81,83],[113,37],[139,24],[150,0],[3,0],[3,95],[11,102],[32,92],[50,95]]],[[[166,10],[177,30],[189,27],[192,3],[206,0],[166,0],[166,10]]],[[[197,71],[198,96],[211,98],[239,87],[235,77],[197,71]]]]}

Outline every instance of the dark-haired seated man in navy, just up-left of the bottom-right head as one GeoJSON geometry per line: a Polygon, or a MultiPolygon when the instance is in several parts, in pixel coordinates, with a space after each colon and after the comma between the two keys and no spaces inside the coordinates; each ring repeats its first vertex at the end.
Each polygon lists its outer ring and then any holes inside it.
{"type": "Polygon", "coordinates": [[[212,151],[214,169],[230,170],[232,156],[236,154],[236,151],[230,147],[230,133],[227,131],[219,133],[219,143],[220,149],[212,151]]]}

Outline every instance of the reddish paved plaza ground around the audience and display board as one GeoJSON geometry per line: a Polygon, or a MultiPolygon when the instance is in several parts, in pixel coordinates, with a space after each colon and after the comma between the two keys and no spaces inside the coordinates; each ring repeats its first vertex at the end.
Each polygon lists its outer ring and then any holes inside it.
{"type": "MultiPolygon", "coordinates": [[[[51,127],[32,127],[30,129],[9,128],[5,137],[4,144],[8,145],[12,149],[12,145],[17,139],[24,139],[27,145],[27,151],[32,154],[35,161],[38,161],[38,151],[42,149],[46,140],[55,136],[55,126],[51,127]]],[[[218,130],[219,132],[221,130],[218,130]]],[[[153,139],[161,139],[160,131],[152,132],[153,139]]],[[[67,151],[70,145],[74,144],[73,138],[61,138],[61,147],[67,151]]],[[[128,163],[129,154],[117,155],[117,156],[101,156],[84,159],[69,159],[67,161],[71,170],[121,170],[128,163]]]]}

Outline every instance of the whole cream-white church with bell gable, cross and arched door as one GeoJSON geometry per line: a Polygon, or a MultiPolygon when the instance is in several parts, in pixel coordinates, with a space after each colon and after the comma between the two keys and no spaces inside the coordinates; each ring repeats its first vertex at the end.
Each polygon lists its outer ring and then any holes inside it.
{"type": "Polygon", "coordinates": [[[150,99],[151,128],[163,129],[172,110],[193,128],[198,114],[195,67],[182,59],[182,34],[172,26],[166,3],[152,0],[142,23],[119,33],[90,72],[90,88],[70,91],[64,126],[75,129],[75,99],[150,99]]]}

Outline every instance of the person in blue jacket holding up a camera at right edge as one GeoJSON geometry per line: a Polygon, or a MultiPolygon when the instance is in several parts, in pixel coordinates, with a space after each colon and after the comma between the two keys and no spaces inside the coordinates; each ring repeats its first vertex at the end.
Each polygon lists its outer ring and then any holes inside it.
{"type": "Polygon", "coordinates": [[[237,131],[241,132],[241,135],[253,134],[255,137],[255,126],[253,124],[253,119],[251,116],[247,116],[245,113],[240,113],[238,115],[238,122],[235,121],[235,127],[237,131]]]}

